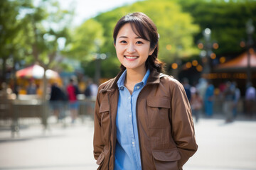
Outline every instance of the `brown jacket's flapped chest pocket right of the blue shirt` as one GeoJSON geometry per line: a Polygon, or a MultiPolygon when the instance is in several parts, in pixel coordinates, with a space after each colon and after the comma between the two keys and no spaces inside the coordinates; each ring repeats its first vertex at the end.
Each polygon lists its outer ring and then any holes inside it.
{"type": "Polygon", "coordinates": [[[149,116],[149,128],[169,127],[171,100],[169,98],[152,98],[147,99],[146,104],[149,116]]]}

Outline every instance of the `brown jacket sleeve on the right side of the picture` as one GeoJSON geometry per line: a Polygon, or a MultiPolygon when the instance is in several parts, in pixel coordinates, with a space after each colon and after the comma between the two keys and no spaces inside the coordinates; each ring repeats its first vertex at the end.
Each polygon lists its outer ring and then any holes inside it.
{"type": "Polygon", "coordinates": [[[181,155],[181,159],[178,161],[178,169],[181,169],[183,164],[196,152],[198,145],[196,145],[191,106],[183,85],[174,80],[174,84],[170,88],[172,136],[181,155]]]}

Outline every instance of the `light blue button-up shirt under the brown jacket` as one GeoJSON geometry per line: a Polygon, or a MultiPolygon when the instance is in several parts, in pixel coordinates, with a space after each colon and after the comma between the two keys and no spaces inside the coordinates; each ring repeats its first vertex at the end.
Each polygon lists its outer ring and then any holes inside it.
{"type": "Polygon", "coordinates": [[[115,149],[114,170],[141,170],[142,163],[139,151],[139,135],[136,118],[136,104],[140,91],[149,78],[150,71],[147,70],[144,78],[135,84],[132,95],[124,86],[127,71],[117,81],[119,88],[119,99],[117,106],[117,144],[115,149]]]}

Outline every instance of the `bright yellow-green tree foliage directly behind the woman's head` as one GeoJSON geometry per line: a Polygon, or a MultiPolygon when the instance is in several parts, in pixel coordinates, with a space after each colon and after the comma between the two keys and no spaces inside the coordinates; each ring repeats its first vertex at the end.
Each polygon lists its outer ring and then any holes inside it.
{"type": "MultiPolygon", "coordinates": [[[[198,54],[196,46],[193,44],[193,34],[198,33],[198,26],[193,24],[193,18],[189,13],[181,11],[181,6],[171,1],[138,1],[132,5],[115,8],[112,11],[100,13],[94,18],[95,21],[101,24],[105,42],[100,47],[100,53],[108,55],[107,60],[102,61],[102,76],[114,77],[119,72],[119,62],[115,55],[112,31],[115,24],[122,16],[127,13],[141,11],[146,13],[153,21],[159,31],[160,50],[159,58],[167,64],[171,64],[177,57],[189,57],[198,54]],[[169,47],[166,48],[166,46],[169,47]]],[[[82,28],[83,26],[81,26],[82,28]]],[[[81,39],[90,37],[90,32],[79,34],[81,39]]],[[[98,30],[95,29],[95,32],[98,30]]],[[[90,46],[94,42],[94,38],[85,44],[90,46]]],[[[85,48],[87,52],[89,50],[85,48]]],[[[90,52],[89,52],[90,53],[90,52]]],[[[90,64],[90,69],[94,69],[90,64]]],[[[93,73],[88,70],[87,73],[93,73]]],[[[86,73],[86,74],[87,74],[86,73]]],[[[92,75],[90,75],[92,76],[92,75]]]]}

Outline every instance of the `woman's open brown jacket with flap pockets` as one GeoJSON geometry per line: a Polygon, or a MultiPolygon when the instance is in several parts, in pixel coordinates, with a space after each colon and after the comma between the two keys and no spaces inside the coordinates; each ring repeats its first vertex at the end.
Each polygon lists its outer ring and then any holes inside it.
{"type": "MultiPolygon", "coordinates": [[[[100,85],[95,103],[94,157],[98,169],[114,169],[117,80],[100,85]]],[[[182,169],[197,150],[191,107],[183,86],[151,71],[137,98],[137,125],[143,170],[182,169]]]]}

